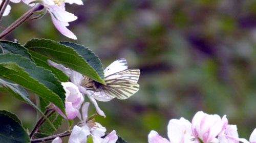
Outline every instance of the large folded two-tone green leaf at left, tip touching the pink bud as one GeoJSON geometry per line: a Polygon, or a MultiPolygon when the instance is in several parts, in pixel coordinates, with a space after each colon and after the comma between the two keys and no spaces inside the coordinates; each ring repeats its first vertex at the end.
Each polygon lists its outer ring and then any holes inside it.
{"type": "Polygon", "coordinates": [[[65,112],[65,91],[49,70],[37,67],[29,59],[20,55],[7,53],[0,54],[0,76],[22,85],[65,112]]]}

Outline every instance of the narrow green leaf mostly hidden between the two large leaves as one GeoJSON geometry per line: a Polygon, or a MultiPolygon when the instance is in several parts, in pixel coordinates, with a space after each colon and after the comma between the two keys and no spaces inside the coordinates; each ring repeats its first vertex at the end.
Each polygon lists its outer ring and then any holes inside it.
{"type": "Polygon", "coordinates": [[[48,69],[50,71],[52,71],[52,73],[59,79],[59,81],[61,82],[68,82],[69,81],[69,77],[64,74],[61,70],[58,70],[52,66],[50,66],[47,63],[47,60],[49,58],[47,58],[47,56],[44,56],[42,54],[39,54],[37,52],[34,52],[32,50],[29,50],[29,53],[32,55],[33,60],[35,61],[35,64],[39,67],[44,67],[45,69],[48,69]]]}

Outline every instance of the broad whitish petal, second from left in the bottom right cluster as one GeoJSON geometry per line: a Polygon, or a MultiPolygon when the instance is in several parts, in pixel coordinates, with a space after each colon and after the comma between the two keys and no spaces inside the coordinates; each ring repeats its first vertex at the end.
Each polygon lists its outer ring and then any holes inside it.
{"type": "Polygon", "coordinates": [[[180,120],[172,119],[167,126],[168,137],[172,143],[194,142],[191,131],[191,123],[181,118],[180,120]]]}

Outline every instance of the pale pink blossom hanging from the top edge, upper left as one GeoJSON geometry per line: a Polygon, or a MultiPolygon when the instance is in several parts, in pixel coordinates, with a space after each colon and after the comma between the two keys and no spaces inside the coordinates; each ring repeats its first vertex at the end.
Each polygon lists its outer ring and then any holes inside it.
{"type": "MultiPolygon", "coordinates": [[[[17,1],[17,0],[16,0],[17,1]]],[[[35,4],[31,4],[34,0],[23,0],[24,3],[35,6],[35,4]]],[[[65,3],[69,4],[78,4],[83,5],[81,0],[40,0],[41,4],[44,5],[44,7],[47,9],[47,11],[50,13],[52,22],[54,26],[57,28],[57,30],[71,38],[71,39],[77,39],[76,36],[67,28],[69,26],[69,22],[74,21],[77,19],[77,17],[66,11],[65,9],[65,3]]]]}

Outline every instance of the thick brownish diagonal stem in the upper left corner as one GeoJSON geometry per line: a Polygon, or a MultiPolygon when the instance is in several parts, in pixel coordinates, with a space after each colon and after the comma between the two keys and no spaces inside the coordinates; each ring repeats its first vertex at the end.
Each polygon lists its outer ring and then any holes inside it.
{"type": "MultiPolygon", "coordinates": [[[[6,0],[9,1],[9,0],[6,0]]],[[[27,19],[29,19],[29,17],[31,15],[33,15],[33,13],[35,11],[38,11],[40,9],[44,8],[44,6],[42,5],[37,5],[35,7],[33,7],[32,9],[30,9],[28,12],[26,12],[23,16],[19,17],[16,21],[14,21],[10,26],[8,26],[6,28],[6,30],[4,30],[1,34],[0,34],[0,39],[5,37],[7,34],[9,34],[10,32],[12,32],[16,27],[18,27],[20,24],[22,24],[23,22],[25,22],[27,19]]]]}

